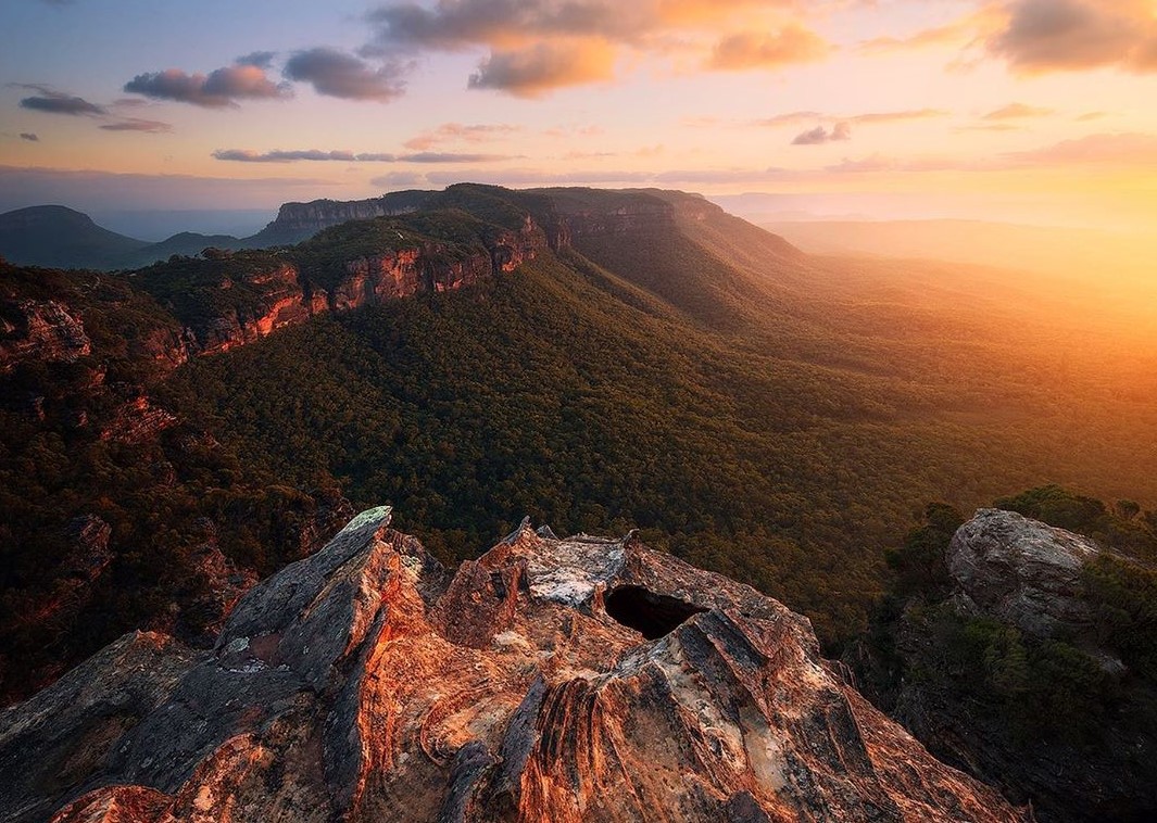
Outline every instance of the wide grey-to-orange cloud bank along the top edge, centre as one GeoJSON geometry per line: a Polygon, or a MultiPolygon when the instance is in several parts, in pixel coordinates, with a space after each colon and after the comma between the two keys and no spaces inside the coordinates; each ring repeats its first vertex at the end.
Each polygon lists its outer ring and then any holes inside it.
{"type": "MultiPolygon", "coordinates": [[[[826,0],[825,0],[826,1],[826,0]]],[[[457,52],[486,47],[489,54],[467,79],[473,89],[500,89],[523,97],[567,86],[612,79],[620,58],[694,53],[705,68],[778,68],[819,59],[827,44],[798,22],[796,0],[439,0],[433,5],[390,2],[370,12],[363,57],[457,52]],[[760,25],[753,13],[774,12],[774,34],[721,31],[760,25]],[[568,62],[569,61],[569,62],[568,62]]]]}

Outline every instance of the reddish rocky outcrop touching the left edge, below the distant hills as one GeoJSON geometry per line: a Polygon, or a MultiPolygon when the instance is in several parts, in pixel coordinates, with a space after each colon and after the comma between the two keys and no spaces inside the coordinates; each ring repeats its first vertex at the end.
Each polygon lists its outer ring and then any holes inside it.
{"type": "Polygon", "coordinates": [[[91,350],[80,316],[58,301],[6,301],[0,306],[0,373],[23,361],[73,363],[91,350]]]}

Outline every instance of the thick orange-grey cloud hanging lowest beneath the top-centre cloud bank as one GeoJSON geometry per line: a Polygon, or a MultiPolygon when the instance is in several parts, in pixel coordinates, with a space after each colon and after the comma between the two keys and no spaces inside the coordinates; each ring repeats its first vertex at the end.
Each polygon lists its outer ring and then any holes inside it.
{"type": "Polygon", "coordinates": [[[604,42],[544,42],[492,53],[470,75],[467,87],[538,97],[552,89],[606,81],[613,75],[614,50],[604,42]]]}

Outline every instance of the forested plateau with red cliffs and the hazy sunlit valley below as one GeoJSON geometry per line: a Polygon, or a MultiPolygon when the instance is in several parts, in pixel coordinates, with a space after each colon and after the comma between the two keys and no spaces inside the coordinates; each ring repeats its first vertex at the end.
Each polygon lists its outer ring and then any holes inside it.
{"type": "MultiPolygon", "coordinates": [[[[282,217],[337,224],[127,272],[0,268],[7,699],[134,629],[212,646],[261,577],[382,502],[447,568],[524,514],[638,528],[805,614],[828,654],[929,501],[1060,481],[1147,534],[1155,357],[1063,281],[816,258],[657,190],[462,184],[282,217]]],[[[1020,666],[994,637],[948,662],[1020,666]]],[[[923,659],[869,657],[882,703],[923,659]]]]}

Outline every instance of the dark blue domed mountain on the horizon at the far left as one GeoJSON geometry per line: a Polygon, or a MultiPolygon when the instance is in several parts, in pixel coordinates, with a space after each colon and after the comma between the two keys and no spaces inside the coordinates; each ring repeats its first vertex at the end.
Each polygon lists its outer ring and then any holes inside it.
{"type": "Polygon", "coordinates": [[[65,206],[32,206],[0,215],[0,255],[58,268],[118,268],[148,244],[102,229],[65,206]]]}

